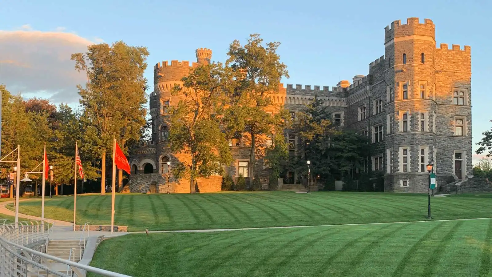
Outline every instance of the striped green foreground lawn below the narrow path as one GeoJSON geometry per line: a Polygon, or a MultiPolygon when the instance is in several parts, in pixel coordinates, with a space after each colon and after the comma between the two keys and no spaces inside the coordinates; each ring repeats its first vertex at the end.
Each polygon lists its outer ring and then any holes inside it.
{"type": "Polygon", "coordinates": [[[134,234],[101,242],[91,265],[135,277],[485,277],[491,252],[492,220],[481,219],[134,234]]]}

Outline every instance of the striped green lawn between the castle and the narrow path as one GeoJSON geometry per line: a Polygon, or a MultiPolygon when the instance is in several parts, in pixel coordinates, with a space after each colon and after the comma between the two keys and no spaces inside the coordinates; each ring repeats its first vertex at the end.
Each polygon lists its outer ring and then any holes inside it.
{"type": "MultiPolygon", "coordinates": [[[[20,212],[40,215],[40,200],[20,212]]],[[[10,206],[9,208],[13,208],[10,206]]],[[[356,192],[243,192],[116,196],[115,224],[128,231],[326,225],[425,220],[427,195],[356,192]]],[[[110,224],[111,195],[77,197],[77,223],[110,224]]],[[[487,197],[432,198],[434,219],[492,216],[487,197]]],[[[47,218],[72,221],[73,196],[46,199],[47,218]]]]}

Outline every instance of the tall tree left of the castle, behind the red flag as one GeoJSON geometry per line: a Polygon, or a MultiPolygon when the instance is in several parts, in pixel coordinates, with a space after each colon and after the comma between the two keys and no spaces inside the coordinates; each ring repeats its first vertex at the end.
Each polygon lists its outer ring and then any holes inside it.
{"type": "MultiPolygon", "coordinates": [[[[78,85],[84,116],[97,136],[92,138],[101,156],[101,194],[105,194],[106,154],[112,150],[116,136],[123,152],[126,141],[138,140],[146,124],[147,69],[149,51],[146,47],[128,46],[123,41],[111,45],[93,44],[88,52],[72,54],[75,69],[85,71],[85,87],[78,85]]],[[[88,138],[89,139],[89,138],[88,138]]],[[[123,172],[120,170],[120,185],[123,172]]]]}

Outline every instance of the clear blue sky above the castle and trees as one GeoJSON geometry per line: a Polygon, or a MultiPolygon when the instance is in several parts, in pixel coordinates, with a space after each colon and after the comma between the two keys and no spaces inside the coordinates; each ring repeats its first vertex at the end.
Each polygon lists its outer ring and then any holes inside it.
{"type": "MultiPolygon", "coordinates": [[[[474,142],[492,126],[490,1],[0,0],[0,5],[0,30],[30,25],[91,41],[147,46],[151,85],[157,62],[194,61],[200,47],[212,49],[213,60],[224,61],[230,42],[260,33],[282,43],[278,52],[290,74],[284,83],[335,86],[341,79],[366,75],[369,63],[384,54],[386,25],[407,17],[430,18],[437,45],[471,46],[474,142]]],[[[0,82],[5,83],[1,76],[0,82]]]]}

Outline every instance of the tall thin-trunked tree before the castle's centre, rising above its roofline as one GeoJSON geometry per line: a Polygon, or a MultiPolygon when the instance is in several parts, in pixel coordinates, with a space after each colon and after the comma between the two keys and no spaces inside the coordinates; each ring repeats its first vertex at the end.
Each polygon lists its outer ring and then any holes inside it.
{"type": "Polygon", "coordinates": [[[263,44],[259,34],[250,35],[248,43],[234,40],[229,46],[227,66],[236,74],[237,85],[232,91],[231,105],[226,118],[227,126],[236,134],[250,138],[249,176],[253,184],[258,141],[283,128],[286,112],[269,113],[275,107],[270,96],[278,93],[280,79],[289,77],[287,67],[277,54],[280,42],[263,44]]]}

